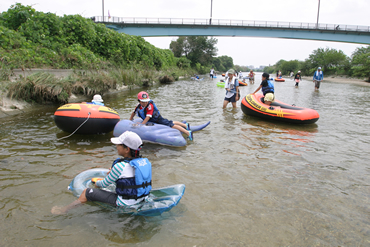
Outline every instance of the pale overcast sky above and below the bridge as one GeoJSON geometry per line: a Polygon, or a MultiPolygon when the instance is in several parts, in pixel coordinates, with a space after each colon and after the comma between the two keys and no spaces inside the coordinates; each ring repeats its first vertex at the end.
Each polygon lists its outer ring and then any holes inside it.
{"type": "MultiPolygon", "coordinates": [[[[59,16],[80,14],[83,17],[161,17],[161,18],[212,18],[228,20],[258,20],[316,23],[318,0],[1,0],[0,12],[16,2],[31,5],[37,11],[59,16]]],[[[320,0],[319,23],[370,26],[368,11],[370,0],[320,0]]],[[[148,42],[169,49],[177,37],[150,37],[148,42]]],[[[305,60],[318,48],[342,50],[347,56],[360,44],[294,40],[258,37],[215,37],[218,40],[217,56],[227,55],[234,64],[259,67],[273,65],[280,59],[305,60]]]]}

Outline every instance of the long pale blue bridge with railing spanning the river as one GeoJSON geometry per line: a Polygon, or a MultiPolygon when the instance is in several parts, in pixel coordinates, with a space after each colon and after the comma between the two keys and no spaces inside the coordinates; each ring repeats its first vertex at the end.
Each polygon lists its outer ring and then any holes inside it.
{"type": "Polygon", "coordinates": [[[91,17],[120,33],[142,37],[229,36],[370,44],[370,26],[183,18],[91,17]]]}

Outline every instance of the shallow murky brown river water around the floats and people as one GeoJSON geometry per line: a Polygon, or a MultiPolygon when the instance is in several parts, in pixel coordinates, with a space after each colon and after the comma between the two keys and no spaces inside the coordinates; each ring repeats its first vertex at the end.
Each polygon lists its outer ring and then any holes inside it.
{"type": "MultiPolygon", "coordinates": [[[[252,93],[261,81],[241,87],[252,93]]],[[[94,204],[66,215],[79,172],[118,157],[112,133],[73,135],[53,121],[57,106],[0,119],[0,246],[369,246],[370,87],[275,82],[276,98],[320,114],[291,125],[223,110],[217,80],[145,89],[162,115],[211,121],[181,148],[147,144],[154,187],[183,183],[178,206],[159,217],[127,216],[94,204]]],[[[141,89],[104,95],[127,119],[141,89]]]]}

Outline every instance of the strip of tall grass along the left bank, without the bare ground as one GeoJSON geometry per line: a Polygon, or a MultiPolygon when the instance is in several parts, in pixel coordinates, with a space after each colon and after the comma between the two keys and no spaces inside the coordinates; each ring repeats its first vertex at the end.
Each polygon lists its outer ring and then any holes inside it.
{"type": "Polygon", "coordinates": [[[2,97],[24,100],[38,104],[65,104],[72,94],[92,96],[123,87],[133,88],[150,86],[153,83],[175,81],[180,76],[194,74],[191,69],[177,67],[157,71],[156,69],[131,66],[108,70],[78,70],[60,78],[51,73],[37,72],[27,77],[19,75],[11,78],[11,73],[3,71],[5,79],[0,82],[2,97]]]}

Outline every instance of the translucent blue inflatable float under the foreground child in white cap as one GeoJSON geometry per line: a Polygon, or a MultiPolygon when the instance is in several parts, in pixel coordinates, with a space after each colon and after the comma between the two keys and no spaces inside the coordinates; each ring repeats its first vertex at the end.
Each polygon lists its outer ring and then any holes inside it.
{"type": "MultiPolygon", "coordinates": [[[[108,169],[95,168],[81,172],[69,184],[68,189],[72,191],[73,195],[79,197],[84,189],[95,188],[91,183],[92,178],[105,178],[108,169]]],[[[110,185],[104,188],[107,191],[115,192],[116,186],[110,185]]],[[[127,207],[114,207],[101,202],[94,202],[104,208],[115,209],[120,213],[143,215],[143,216],[156,216],[163,212],[169,211],[176,206],[185,192],[184,184],[176,184],[168,187],[152,189],[146,200],[135,205],[127,207]]]]}

